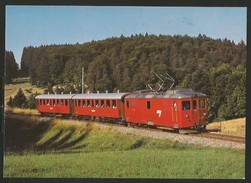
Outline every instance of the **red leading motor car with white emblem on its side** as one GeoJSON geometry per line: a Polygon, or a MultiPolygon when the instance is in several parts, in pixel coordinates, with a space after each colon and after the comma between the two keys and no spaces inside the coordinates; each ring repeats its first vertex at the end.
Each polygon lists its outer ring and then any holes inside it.
{"type": "Polygon", "coordinates": [[[208,122],[206,95],[192,89],[135,92],[125,97],[125,105],[129,123],[184,129],[204,128],[208,122]]]}

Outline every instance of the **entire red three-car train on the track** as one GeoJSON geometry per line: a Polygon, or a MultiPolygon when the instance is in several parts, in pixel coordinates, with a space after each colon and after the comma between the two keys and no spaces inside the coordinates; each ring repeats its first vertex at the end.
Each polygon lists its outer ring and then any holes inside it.
{"type": "Polygon", "coordinates": [[[62,115],[173,129],[204,129],[208,99],[192,89],[166,92],[44,94],[36,96],[42,115],[62,115]]]}

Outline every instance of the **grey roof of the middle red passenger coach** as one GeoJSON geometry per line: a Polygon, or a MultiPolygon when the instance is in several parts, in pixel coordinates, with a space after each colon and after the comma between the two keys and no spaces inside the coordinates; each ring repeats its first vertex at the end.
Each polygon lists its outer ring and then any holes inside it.
{"type": "Polygon", "coordinates": [[[85,93],[76,94],[72,99],[122,99],[129,93],[85,93]]]}

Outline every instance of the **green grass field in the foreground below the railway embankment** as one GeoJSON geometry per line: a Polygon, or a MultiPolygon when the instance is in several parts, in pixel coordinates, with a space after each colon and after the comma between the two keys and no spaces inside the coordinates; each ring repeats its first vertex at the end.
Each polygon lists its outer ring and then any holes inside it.
{"type": "Polygon", "coordinates": [[[156,140],[95,124],[6,118],[4,177],[243,178],[245,150],[156,140]]]}

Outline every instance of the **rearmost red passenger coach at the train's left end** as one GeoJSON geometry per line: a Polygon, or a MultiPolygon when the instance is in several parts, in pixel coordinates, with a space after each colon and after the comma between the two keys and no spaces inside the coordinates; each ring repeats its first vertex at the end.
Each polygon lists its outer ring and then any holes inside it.
{"type": "Polygon", "coordinates": [[[37,109],[41,114],[72,113],[71,98],[73,94],[44,94],[36,96],[37,109]]]}

